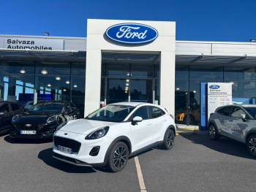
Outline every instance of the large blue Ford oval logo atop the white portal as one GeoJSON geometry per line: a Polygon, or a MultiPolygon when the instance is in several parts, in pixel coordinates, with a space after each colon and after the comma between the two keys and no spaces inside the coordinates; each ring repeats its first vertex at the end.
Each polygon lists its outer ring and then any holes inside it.
{"type": "Polygon", "coordinates": [[[141,44],[152,42],[158,37],[158,31],[144,24],[139,23],[120,23],[110,26],[106,30],[109,39],[116,42],[127,44],[141,44]]]}

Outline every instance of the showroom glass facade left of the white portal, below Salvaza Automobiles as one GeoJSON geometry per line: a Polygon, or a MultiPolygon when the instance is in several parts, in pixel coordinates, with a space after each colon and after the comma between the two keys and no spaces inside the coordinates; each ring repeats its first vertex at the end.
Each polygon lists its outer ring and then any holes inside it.
{"type": "Polygon", "coordinates": [[[0,61],[0,100],[26,108],[33,101],[61,100],[73,101],[83,112],[85,82],[82,62],[0,61]]]}

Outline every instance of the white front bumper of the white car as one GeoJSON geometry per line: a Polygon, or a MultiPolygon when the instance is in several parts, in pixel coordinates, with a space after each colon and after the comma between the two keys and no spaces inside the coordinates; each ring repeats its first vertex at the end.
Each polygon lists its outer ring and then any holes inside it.
{"type": "MultiPolygon", "coordinates": [[[[113,139],[105,136],[99,139],[86,140],[85,134],[76,134],[67,131],[57,131],[53,136],[53,158],[67,162],[76,166],[105,166],[107,159],[105,158],[113,139]],[[65,135],[66,134],[66,135],[65,135]],[[80,142],[80,148],[77,153],[69,154],[58,150],[54,137],[63,137],[64,139],[75,140],[80,142]],[[95,156],[89,155],[92,148],[99,146],[99,153],[95,156]]],[[[68,145],[62,147],[69,147],[68,145]]],[[[69,147],[72,148],[72,147],[69,147]]]]}

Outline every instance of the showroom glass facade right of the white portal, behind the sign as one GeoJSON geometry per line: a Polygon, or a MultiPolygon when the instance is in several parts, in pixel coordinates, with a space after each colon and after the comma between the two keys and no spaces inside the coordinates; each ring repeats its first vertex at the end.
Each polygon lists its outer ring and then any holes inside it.
{"type": "Polygon", "coordinates": [[[233,103],[255,104],[255,70],[256,67],[176,65],[176,123],[199,125],[200,82],[231,82],[233,103]]]}

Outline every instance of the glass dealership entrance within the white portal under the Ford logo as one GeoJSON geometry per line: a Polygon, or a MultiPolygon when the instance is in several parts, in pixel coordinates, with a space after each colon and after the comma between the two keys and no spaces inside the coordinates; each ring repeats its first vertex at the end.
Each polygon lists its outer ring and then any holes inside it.
{"type": "Polygon", "coordinates": [[[160,53],[102,53],[101,102],[159,104],[160,53]]]}

